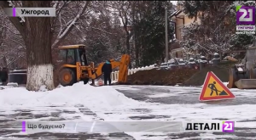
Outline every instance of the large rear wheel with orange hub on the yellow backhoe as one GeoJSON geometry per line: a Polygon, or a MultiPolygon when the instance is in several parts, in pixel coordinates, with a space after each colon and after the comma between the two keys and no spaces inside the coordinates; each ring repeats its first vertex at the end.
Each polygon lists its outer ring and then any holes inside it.
{"type": "Polygon", "coordinates": [[[73,84],[77,81],[74,70],[70,68],[63,68],[60,70],[59,81],[61,86],[73,86],[73,84]]]}

